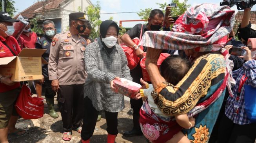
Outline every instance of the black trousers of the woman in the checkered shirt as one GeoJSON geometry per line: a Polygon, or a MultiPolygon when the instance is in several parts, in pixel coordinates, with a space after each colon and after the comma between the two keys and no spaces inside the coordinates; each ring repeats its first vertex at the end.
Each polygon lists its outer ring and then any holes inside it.
{"type": "MultiPolygon", "coordinates": [[[[88,97],[84,98],[84,123],[81,132],[81,138],[83,140],[88,140],[93,136],[93,132],[96,126],[99,111],[93,107],[91,99],[88,97]]],[[[118,113],[112,113],[105,111],[105,116],[107,120],[107,133],[116,135],[117,130],[117,115],[118,113]]]]}

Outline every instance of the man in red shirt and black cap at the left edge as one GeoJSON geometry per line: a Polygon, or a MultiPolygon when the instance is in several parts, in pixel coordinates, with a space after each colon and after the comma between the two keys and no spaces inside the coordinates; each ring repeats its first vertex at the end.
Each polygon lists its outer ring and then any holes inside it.
{"type": "MultiPolygon", "coordinates": [[[[14,32],[13,22],[8,13],[0,12],[0,58],[12,57],[20,53],[20,46],[10,35],[14,32]]],[[[7,135],[25,134],[25,130],[15,128],[19,115],[14,104],[20,93],[20,82],[12,82],[11,75],[0,74],[0,143],[8,143],[7,135]]]]}

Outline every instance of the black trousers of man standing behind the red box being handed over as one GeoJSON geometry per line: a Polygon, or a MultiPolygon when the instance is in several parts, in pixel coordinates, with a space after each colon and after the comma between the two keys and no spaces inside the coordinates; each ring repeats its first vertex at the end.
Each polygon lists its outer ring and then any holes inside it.
{"type": "MultiPolygon", "coordinates": [[[[140,62],[138,63],[138,66],[134,68],[133,70],[130,70],[131,77],[133,77],[133,82],[136,82],[138,84],[140,83],[140,78],[142,78],[142,69],[140,67],[140,62]]],[[[140,118],[140,107],[142,107],[142,99],[136,100],[136,99],[130,99],[131,108],[133,109],[133,129],[135,130],[141,130],[140,124],[139,124],[139,118],[140,118]]]]}

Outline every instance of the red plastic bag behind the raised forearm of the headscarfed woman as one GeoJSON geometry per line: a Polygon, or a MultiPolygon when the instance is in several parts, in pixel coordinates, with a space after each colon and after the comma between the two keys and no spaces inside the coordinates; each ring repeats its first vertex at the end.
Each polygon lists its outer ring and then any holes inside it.
{"type": "MultiPolygon", "coordinates": [[[[162,64],[163,60],[165,60],[169,56],[170,56],[170,54],[168,54],[168,53],[161,53],[160,54],[160,57],[157,61],[158,68],[162,64]]],[[[143,57],[143,59],[140,61],[140,67],[142,68],[142,78],[145,81],[151,81],[150,78],[149,78],[149,73],[147,73],[147,68],[145,66],[145,60],[146,60],[146,57],[143,57]]]]}

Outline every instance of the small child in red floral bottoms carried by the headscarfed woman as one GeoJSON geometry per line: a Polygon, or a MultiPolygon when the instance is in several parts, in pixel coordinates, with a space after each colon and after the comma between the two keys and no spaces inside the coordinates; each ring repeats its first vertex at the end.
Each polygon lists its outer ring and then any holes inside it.
{"type": "MultiPolygon", "coordinates": [[[[168,83],[176,85],[189,68],[185,59],[169,56],[160,65],[160,73],[168,83]]],[[[176,115],[175,118],[163,114],[151,96],[153,90],[152,84],[148,84],[147,89],[140,89],[140,96],[147,98],[140,109],[140,126],[144,136],[153,143],[190,143],[181,130],[194,127],[194,118],[189,118],[187,114],[176,115]]]]}

